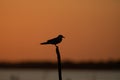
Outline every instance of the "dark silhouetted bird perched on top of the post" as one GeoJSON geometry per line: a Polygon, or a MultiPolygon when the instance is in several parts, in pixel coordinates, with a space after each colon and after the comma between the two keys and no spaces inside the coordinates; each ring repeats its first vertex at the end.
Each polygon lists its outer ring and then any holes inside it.
{"type": "Polygon", "coordinates": [[[56,38],[47,40],[46,42],[42,42],[40,44],[41,45],[52,44],[52,45],[56,46],[57,44],[59,44],[62,41],[63,38],[65,38],[63,35],[58,35],[56,38]]]}

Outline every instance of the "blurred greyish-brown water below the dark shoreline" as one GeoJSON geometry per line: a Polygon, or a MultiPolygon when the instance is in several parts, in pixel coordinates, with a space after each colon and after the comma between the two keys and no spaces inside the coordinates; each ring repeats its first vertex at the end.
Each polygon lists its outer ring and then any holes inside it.
{"type": "MultiPolygon", "coordinates": [[[[120,80],[120,71],[63,70],[63,80],[120,80]]],[[[57,70],[0,69],[0,80],[58,80],[57,70]]]]}

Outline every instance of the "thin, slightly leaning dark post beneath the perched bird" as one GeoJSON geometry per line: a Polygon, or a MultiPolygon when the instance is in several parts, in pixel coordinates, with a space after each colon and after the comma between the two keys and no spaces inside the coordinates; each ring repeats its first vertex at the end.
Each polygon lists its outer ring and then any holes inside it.
{"type": "Polygon", "coordinates": [[[56,46],[56,54],[57,54],[57,60],[58,60],[58,76],[59,76],[59,80],[62,80],[61,57],[60,57],[60,51],[58,46],[56,46]]]}

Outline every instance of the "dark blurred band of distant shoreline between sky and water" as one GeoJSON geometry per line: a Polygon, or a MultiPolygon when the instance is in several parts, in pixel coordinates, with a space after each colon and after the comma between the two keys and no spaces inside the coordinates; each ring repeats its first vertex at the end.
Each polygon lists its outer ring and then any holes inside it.
{"type": "MultiPolygon", "coordinates": [[[[53,62],[0,63],[0,69],[57,69],[57,63],[53,63],[53,62]]],[[[120,70],[120,61],[108,62],[108,63],[63,62],[62,69],[120,70]]]]}

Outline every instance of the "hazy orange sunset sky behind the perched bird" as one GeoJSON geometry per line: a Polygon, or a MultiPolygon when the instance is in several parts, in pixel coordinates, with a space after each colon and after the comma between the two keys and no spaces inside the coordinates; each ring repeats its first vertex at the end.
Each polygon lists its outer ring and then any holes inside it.
{"type": "Polygon", "coordinates": [[[120,59],[119,0],[0,0],[0,62],[120,59]]]}

